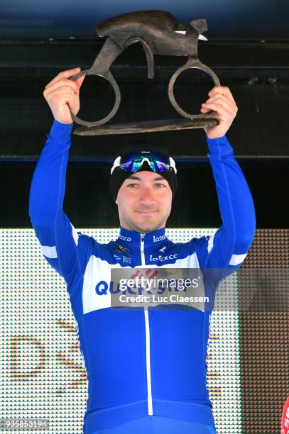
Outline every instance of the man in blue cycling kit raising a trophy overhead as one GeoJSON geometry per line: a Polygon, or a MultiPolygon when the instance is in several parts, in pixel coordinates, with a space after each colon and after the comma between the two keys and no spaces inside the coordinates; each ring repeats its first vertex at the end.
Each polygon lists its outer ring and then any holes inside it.
{"type": "MultiPolygon", "coordinates": [[[[109,182],[119,210],[117,240],[77,231],[62,210],[73,122],[80,109],[80,68],[60,72],[44,91],[54,116],[33,174],[29,214],[48,263],[65,279],[88,379],[86,434],[215,433],[206,386],[212,310],[111,308],[115,267],[219,269],[219,279],[244,261],[255,233],[253,199],[226,133],[237,107],[227,87],[214,87],[202,113],[222,226],[211,236],[173,243],[165,234],[177,188],[166,148],[131,145],[116,156],[109,182]]],[[[189,199],[189,198],[188,198],[189,199]]],[[[180,211],[181,212],[181,211],[180,211]]]]}

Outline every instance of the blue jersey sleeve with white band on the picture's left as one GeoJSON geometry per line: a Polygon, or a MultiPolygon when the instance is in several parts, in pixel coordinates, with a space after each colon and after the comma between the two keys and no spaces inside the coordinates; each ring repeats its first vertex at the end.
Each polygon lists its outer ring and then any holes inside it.
{"type": "Polygon", "coordinates": [[[92,250],[92,238],[77,232],[62,210],[72,126],[53,122],[29,197],[29,216],[43,255],[65,279],[69,293],[82,279],[92,250]]]}

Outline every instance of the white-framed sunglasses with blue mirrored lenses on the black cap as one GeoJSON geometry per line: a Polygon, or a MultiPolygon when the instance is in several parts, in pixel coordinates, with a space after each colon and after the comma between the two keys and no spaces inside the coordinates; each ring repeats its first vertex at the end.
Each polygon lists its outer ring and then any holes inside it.
{"type": "Polygon", "coordinates": [[[177,173],[175,160],[173,160],[172,157],[167,157],[166,155],[154,151],[137,151],[126,157],[117,157],[111,168],[111,173],[116,167],[119,167],[121,170],[126,170],[127,172],[138,172],[145,161],[148,162],[153,172],[167,172],[173,169],[175,170],[175,174],[177,173]]]}

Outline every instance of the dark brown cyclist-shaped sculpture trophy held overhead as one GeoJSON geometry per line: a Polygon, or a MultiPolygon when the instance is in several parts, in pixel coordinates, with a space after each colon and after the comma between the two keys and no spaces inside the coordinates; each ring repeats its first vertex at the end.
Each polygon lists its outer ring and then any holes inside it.
{"type": "Polygon", "coordinates": [[[79,124],[75,128],[77,135],[104,135],[124,133],[149,133],[162,130],[175,130],[187,128],[204,128],[219,124],[217,118],[212,118],[213,111],[205,114],[190,114],[182,110],[175,101],[173,87],[178,75],[189,68],[202,69],[209,74],[214,86],[220,86],[217,75],[206,65],[200,62],[197,55],[197,43],[199,39],[207,40],[203,32],[207,31],[205,19],[193,20],[189,24],[181,24],[173,15],[166,11],[136,11],[124,13],[97,25],[97,35],[106,36],[102,49],[99,51],[90,69],[85,69],[70,79],[75,80],[83,75],[99,75],[104,77],[114,89],[115,102],[111,112],[99,121],[83,121],[70,109],[73,121],[79,124]],[[133,123],[115,123],[105,125],[116,114],[121,102],[121,93],[114,76],[109,70],[110,65],[116,60],[121,52],[129,45],[140,42],[146,53],[148,64],[148,78],[154,77],[153,55],[186,56],[187,62],[180,67],[170,78],[168,84],[168,97],[174,109],[183,118],[166,119],[158,121],[136,121],[133,123]],[[185,118],[185,119],[184,119],[185,118]]]}

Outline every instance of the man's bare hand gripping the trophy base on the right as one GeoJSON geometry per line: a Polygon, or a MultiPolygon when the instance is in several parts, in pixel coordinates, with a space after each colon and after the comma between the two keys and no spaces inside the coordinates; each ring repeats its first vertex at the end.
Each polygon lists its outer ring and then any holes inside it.
{"type": "Polygon", "coordinates": [[[234,121],[238,107],[229,87],[215,86],[209,91],[209,99],[202,104],[202,113],[214,110],[210,116],[219,119],[219,125],[205,127],[208,138],[219,138],[227,133],[234,121]]]}

